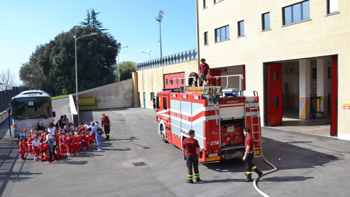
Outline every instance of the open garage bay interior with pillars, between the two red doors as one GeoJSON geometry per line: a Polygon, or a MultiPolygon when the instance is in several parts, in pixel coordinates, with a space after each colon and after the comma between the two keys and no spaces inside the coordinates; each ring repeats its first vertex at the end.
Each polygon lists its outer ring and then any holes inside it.
{"type": "Polygon", "coordinates": [[[282,125],[274,128],[330,136],[330,56],[275,63],[282,64],[282,125]],[[309,76],[307,73],[300,74],[305,61],[309,61],[310,64],[309,76]],[[303,79],[300,80],[300,77],[303,79]],[[308,79],[310,79],[309,87],[306,83],[300,84],[303,80],[307,82],[308,79]],[[306,91],[309,91],[309,96],[306,91]],[[301,118],[300,97],[310,97],[309,113],[306,113],[304,118],[301,118]]]}

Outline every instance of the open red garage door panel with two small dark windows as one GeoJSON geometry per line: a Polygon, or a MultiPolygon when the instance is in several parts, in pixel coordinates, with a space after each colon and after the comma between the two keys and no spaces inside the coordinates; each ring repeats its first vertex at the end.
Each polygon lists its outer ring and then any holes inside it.
{"type": "Polygon", "coordinates": [[[282,124],[282,64],[266,63],[267,126],[282,124]]]}

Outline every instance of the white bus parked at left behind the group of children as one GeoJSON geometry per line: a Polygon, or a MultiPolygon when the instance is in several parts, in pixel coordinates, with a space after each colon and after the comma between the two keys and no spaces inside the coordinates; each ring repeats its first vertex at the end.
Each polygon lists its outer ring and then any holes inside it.
{"type": "Polygon", "coordinates": [[[45,128],[56,116],[52,111],[51,96],[41,90],[27,90],[12,98],[12,128],[14,136],[20,136],[21,129],[33,129],[40,121],[45,128]]]}

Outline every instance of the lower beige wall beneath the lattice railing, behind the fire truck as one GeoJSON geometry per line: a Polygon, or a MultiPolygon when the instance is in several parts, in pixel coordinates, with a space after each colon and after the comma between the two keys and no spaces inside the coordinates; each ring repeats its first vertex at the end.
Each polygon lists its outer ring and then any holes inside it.
{"type": "MultiPolygon", "coordinates": [[[[188,76],[191,72],[198,73],[198,60],[191,60],[181,63],[170,64],[155,68],[148,68],[137,71],[138,92],[140,93],[141,107],[144,107],[144,92],[146,93],[146,107],[153,108],[151,92],[156,96],[164,88],[163,75],[171,73],[185,72],[188,76]]],[[[187,83],[187,80],[185,81],[187,83]]],[[[135,91],[134,104],[138,106],[138,92],[135,91]]]]}

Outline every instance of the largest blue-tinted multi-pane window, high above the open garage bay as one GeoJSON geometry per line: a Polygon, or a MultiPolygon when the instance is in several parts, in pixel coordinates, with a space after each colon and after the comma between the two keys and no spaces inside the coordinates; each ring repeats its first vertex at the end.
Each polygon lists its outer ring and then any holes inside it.
{"type": "Polygon", "coordinates": [[[310,19],[310,1],[283,8],[283,25],[310,19]]]}

